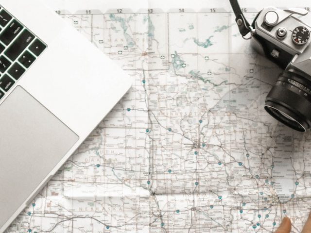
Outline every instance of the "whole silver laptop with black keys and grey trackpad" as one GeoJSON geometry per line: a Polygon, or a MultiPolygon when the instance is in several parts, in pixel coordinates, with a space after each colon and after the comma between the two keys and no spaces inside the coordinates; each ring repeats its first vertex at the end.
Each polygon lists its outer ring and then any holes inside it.
{"type": "Polygon", "coordinates": [[[131,86],[37,0],[0,1],[0,233],[131,86]]]}

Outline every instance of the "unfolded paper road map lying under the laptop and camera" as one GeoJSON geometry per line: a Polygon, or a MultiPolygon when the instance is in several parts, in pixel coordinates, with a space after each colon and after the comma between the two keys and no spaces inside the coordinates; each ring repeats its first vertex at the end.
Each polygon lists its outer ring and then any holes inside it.
{"type": "MultiPolygon", "coordinates": [[[[280,69],[242,39],[229,1],[44,2],[135,82],[9,233],[274,232],[283,216],[301,231],[310,132],[265,112],[280,69]]],[[[241,1],[249,20],[269,5],[311,7],[241,1]]]]}

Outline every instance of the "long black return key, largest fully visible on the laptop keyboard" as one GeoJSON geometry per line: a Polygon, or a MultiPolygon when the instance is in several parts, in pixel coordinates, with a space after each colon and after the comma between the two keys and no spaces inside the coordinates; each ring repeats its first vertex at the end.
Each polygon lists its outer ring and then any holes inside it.
{"type": "Polygon", "coordinates": [[[35,36],[25,29],[20,33],[17,39],[10,45],[10,47],[4,51],[4,54],[15,61],[23,50],[34,40],[35,36]]]}

